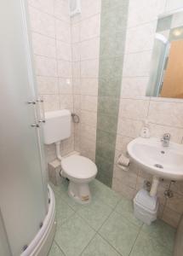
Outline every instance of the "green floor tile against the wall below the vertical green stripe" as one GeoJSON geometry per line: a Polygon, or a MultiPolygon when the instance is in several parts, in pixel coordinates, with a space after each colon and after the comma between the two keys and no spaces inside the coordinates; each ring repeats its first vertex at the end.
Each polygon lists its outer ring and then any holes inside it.
{"type": "Polygon", "coordinates": [[[96,179],[90,183],[90,189],[93,198],[100,198],[101,201],[104,201],[108,206],[113,208],[117,206],[117,202],[121,199],[120,195],[117,195],[115,191],[96,179]]]}

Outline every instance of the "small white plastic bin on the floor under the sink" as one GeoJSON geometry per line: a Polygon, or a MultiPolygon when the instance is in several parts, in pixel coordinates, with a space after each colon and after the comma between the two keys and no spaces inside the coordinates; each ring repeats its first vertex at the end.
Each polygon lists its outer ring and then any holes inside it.
{"type": "Polygon", "coordinates": [[[158,206],[157,196],[150,196],[146,189],[140,189],[134,197],[134,216],[150,225],[157,219],[158,206]]]}

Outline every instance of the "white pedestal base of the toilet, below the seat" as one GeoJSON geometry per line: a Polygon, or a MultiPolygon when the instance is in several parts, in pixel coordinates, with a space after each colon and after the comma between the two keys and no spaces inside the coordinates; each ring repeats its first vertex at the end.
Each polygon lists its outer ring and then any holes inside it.
{"type": "Polygon", "coordinates": [[[88,204],[91,201],[88,183],[73,183],[70,180],[68,194],[80,204],[88,204]]]}

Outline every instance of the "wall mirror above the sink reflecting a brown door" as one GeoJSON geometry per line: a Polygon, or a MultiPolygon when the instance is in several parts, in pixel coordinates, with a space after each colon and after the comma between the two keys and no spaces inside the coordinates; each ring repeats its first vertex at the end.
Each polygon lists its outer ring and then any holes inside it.
{"type": "Polygon", "coordinates": [[[183,9],[157,20],[146,96],[183,98],[183,9]]]}

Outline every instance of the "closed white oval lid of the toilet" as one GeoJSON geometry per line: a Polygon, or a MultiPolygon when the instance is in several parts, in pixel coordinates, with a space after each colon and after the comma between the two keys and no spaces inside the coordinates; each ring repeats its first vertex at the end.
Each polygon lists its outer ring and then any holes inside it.
{"type": "Polygon", "coordinates": [[[97,167],[93,161],[77,154],[61,160],[61,166],[66,174],[76,178],[94,177],[97,173],[97,167]]]}

